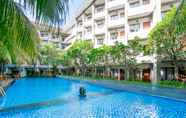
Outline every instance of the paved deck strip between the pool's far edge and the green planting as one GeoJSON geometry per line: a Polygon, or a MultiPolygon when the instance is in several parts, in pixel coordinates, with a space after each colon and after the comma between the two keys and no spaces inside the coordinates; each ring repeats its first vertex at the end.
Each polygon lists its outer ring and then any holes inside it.
{"type": "MultiPolygon", "coordinates": [[[[70,80],[77,80],[75,78],[68,77],[64,78],[70,80]]],[[[146,94],[186,102],[186,89],[144,86],[140,84],[123,84],[112,80],[79,80],[79,81],[95,85],[101,85],[103,87],[112,88],[119,91],[129,91],[134,93],[146,94]]]]}

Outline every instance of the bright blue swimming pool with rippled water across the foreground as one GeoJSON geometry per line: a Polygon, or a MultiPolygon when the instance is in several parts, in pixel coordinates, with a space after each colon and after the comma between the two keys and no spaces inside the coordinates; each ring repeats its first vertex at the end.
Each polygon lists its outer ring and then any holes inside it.
{"type": "Polygon", "coordinates": [[[18,80],[0,100],[6,118],[186,118],[185,102],[60,78],[18,80]]]}

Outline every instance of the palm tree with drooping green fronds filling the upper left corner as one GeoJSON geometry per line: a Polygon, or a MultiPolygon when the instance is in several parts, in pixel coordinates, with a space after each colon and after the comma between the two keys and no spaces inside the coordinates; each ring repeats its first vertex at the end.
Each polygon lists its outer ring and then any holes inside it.
{"type": "Polygon", "coordinates": [[[39,36],[24,10],[37,23],[60,26],[68,0],[0,0],[0,63],[25,63],[37,54],[39,36]]]}

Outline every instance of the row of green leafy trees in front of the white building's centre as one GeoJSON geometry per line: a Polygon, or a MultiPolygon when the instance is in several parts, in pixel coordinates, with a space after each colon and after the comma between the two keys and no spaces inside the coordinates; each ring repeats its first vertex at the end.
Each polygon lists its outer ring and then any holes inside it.
{"type": "MultiPolygon", "coordinates": [[[[139,39],[139,38],[138,38],[139,39]]],[[[65,66],[112,66],[135,63],[135,56],[142,50],[138,39],[128,46],[116,42],[113,46],[93,48],[91,42],[77,40],[68,50],[63,51],[62,63],[65,66]]]]}

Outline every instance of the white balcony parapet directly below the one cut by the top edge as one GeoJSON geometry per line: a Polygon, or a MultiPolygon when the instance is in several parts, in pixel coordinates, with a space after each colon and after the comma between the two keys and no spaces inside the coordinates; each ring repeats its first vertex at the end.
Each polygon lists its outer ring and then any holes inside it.
{"type": "Polygon", "coordinates": [[[125,18],[124,17],[109,19],[109,21],[108,21],[108,28],[120,27],[120,26],[124,26],[124,25],[125,25],[125,18]]]}

